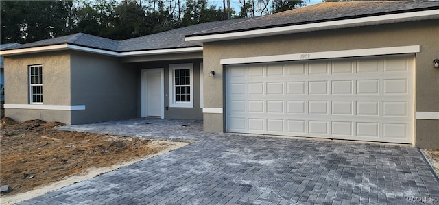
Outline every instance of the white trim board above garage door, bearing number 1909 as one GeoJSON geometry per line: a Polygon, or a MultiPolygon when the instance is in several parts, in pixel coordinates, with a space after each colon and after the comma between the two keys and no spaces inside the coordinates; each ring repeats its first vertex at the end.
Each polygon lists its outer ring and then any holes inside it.
{"type": "Polygon", "coordinates": [[[420,45],[408,45],[400,47],[381,47],[372,49],[353,49],[343,51],[325,51],[315,53],[294,53],[275,56],[255,56],[245,58],[225,58],[219,61],[220,64],[246,64],[258,62],[282,62],[292,60],[315,60],[324,58],[346,58],[359,56],[379,56],[404,53],[419,53],[420,45]]]}

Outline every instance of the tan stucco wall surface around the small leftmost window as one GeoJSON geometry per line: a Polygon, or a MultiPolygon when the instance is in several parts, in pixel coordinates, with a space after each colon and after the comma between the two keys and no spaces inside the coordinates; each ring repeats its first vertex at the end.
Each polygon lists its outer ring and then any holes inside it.
{"type": "MultiPolygon", "coordinates": [[[[29,104],[29,65],[43,65],[43,104],[70,105],[69,52],[57,51],[5,57],[5,104],[29,104]]],[[[5,109],[5,116],[16,121],[42,119],[70,123],[70,112],[63,110],[5,109]]]]}

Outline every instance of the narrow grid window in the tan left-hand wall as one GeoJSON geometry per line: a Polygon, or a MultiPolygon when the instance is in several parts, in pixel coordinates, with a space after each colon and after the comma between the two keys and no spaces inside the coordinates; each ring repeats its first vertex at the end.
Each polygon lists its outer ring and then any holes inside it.
{"type": "Polygon", "coordinates": [[[29,66],[30,104],[43,104],[43,66],[29,66]]]}

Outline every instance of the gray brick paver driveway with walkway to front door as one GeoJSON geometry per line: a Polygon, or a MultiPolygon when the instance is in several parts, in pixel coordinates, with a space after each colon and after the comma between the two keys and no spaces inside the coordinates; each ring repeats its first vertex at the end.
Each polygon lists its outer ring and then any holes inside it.
{"type": "Polygon", "coordinates": [[[20,204],[433,204],[439,197],[438,180],[407,145],[213,134],[202,132],[202,121],[163,119],[63,129],[197,142],[20,204]]]}

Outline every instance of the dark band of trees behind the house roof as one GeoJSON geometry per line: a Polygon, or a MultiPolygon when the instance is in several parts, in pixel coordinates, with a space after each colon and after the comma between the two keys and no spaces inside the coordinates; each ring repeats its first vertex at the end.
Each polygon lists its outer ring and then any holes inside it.
{"type": "Polygon", "coordinates": [[[0,1],[1,43],[30,43],[78,32],[123,40],[224,18],[281,12],[308,0],[239,0],[237,16],[226,6],[228,0],[222,1],[226,9],[208,0],[0,1]]]}

